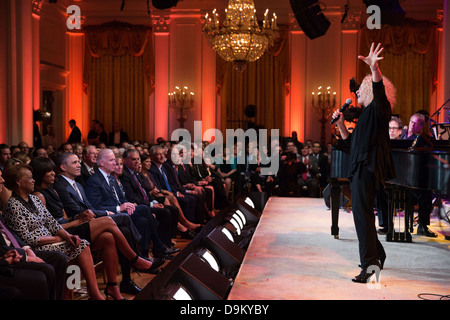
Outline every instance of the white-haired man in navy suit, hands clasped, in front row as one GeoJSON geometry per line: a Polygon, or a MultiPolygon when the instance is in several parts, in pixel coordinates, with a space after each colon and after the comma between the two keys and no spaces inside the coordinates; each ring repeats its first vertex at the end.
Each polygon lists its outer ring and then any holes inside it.
{"type": "Polygon", "coordinates": [[[140,241],[141,254],[146,258],[150,242],[153,242],[153,256],[170,258],[169,249],[161,241],[156,226],[158,221],[145,205],[135,205],[129,202],[121,191],[117,180],[111,175],[116,165],[116,157],[111,149],[102,149],[97,156],[98,170],[92,175],[85,186],[89,202],[96,209],[114,213],[126,212],[131,216],[134,225],[142,236],[140,241]]]}

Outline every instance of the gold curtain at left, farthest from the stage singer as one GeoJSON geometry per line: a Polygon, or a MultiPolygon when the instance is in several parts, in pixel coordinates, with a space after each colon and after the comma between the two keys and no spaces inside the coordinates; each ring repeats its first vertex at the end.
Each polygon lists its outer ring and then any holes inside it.
{"type": "Polygon", "coordinates": [[[153,59],[148,27],[111,22],[88,27],[84,83],[91,119],[111,132],[119,122],[130,139],[147,140],[153,59]]]}

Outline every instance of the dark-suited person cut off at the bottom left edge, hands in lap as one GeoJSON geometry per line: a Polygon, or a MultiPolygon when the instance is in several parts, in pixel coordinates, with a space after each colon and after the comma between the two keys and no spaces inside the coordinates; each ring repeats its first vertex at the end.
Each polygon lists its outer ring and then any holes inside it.
{"type": "MultiPolygon", "coordinates": [[[[0,191],[4,182],[0,171],[0,191]]],[[[0,211],[0,300],[61,300],[66,267],[63,253],[27,246],[5,225],[0,211]],[[10,296],[11,288],[19,295],[10,296]]]]}

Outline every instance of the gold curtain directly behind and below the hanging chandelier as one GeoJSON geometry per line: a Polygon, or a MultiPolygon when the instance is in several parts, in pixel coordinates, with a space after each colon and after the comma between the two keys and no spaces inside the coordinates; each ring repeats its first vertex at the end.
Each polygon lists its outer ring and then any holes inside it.
{"type": "Polygon", "coordinates": [[[283,132],[284,104],[289,79],[287,32],[259,60],[248,63],[243,72],[217,56],[217,90],[221,95],[222,128],[247,129],[254,122],[265,129],[283,132]],[[247,105],[257,107],[256,118],[248,118],[247,105]]]}

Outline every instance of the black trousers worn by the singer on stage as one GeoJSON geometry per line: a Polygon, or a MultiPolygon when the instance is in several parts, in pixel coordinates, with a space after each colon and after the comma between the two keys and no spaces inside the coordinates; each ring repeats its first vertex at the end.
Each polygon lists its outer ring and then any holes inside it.
{"type": "Polygon", "coordinates": [[[375,228],[375,198],[377,185],[374,174],[360,163],[351,179],[352,211],[358,237],[361,267],[367,267],[371,261],[386,256],[375,228]]]}

